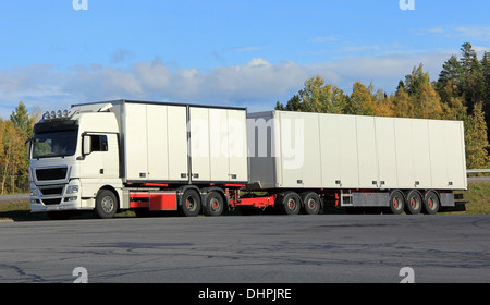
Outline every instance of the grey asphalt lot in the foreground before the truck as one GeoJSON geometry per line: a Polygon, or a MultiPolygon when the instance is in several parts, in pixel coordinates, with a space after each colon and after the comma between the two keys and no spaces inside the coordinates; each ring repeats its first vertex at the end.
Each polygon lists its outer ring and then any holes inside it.
{"type": "Polygon", "coordinates": [[[490,216],[230,216],[0,223],[0,283],[77,280],[490,282],[490,216]]]}

